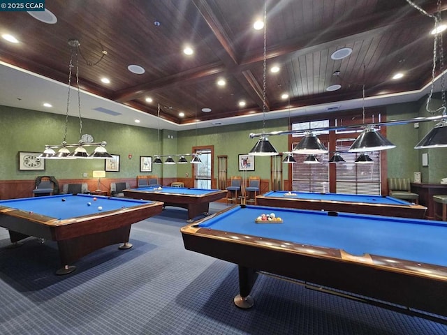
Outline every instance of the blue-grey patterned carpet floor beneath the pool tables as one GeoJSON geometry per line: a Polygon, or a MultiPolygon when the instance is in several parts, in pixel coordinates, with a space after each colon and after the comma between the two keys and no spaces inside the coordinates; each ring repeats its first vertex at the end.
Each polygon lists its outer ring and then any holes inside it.
{"type": "Polygon", "coordinates": [[[10,249],[0,230],[0,334],[447,335],[437,322],[263,275],[243,311],[236,265],[184,250],[186,211],[167,208],[132,226],[133,248],[91,253],[67,276],[54,275],[53,242],[10,249]]]}

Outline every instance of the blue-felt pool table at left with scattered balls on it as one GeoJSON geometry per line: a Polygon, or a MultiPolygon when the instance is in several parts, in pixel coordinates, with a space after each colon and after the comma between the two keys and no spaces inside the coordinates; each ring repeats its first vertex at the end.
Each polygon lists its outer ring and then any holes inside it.
{"type": "Polygon", "coordinates": [[[75,270],[70,265],[75,260],[105,246],[123,242],[119,248],[131,248],[132,223],[162,210],[162,202],[87,194],[50,195],[0,200],[0,226],[8,229],[15,245],[30,236],[57,241],[62,268],[56,274],[61,275],[75,270]]]}

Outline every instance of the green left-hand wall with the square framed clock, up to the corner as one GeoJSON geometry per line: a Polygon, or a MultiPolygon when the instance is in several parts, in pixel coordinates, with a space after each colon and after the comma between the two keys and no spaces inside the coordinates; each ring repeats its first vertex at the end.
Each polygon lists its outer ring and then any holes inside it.
{"type": "MultiPolygon", "coordinates": [[[[76,159],[46,160],[45,171],[20,171],[19,151],[42,152],[45,144],[62,142],[65,116],[0,106],[0,117],[0,133],[3,134],[3,140],[6,140],[6,143],[2,140],[4,149],[0,151],[0,179],[34,179],[38,175],[78,179],[82,178],[83,173],[87,173],[87,178],[91,178],[93,170],[104,169],[104,161],[101,159],[76,159]]],[[[135,177],[142,174],[140,156],[154,156],[158,149],[157,131],[154,129],[82,119],[82,133],[93,135],[95,142],[108,142],[108,152],[120,155],[119,172],[107,172],[108,178],[135,177]],[[131,147],[129,143],[132,144],[131,147]],[[128,158],[129,154],[132,154],[131,159],[128,158]]],[[[68,143],[78,142],[78,118],[69,117],[67,134],[68,143]]],[[[92,149],[87,151],[91,152],[92,149]]]]}

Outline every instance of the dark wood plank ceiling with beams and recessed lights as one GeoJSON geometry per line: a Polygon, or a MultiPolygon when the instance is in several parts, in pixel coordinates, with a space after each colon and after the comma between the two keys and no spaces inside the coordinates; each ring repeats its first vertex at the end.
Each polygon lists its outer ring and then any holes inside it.
{"type": "MultiPolygon", "coordinates": [[[[437,11],[437,1],[414,2],[437,11]]],[[[161,117],[177,124],[263,112],[264,38],[253,23],[263,18],[264,1],[46,0],[45,8],[56,24],[0,12],[0,33],[14,32],[24,44],[0,43],[1,61],[65,83],[68,40],[76,38],[81,87],[99,96],[154,115],[160,103],[161,117]],[[182,52],[185,45],[193,55],[182,52]],[[102,50],[102,61],[86,64],[102,50]],[[131,73],[130,64],[145,73],[131,73]]],[[[420,89],[431,80],[433,27],[405,0],[267,1],[264,109],[288,108],[284,93],[300,107],[361,98],[363,84],[367,96],[420,89]],[[349,57],[331,59],[344,47],[353,50],[349,57]],[[391,80],[399,71],[404,78],[391,80]],[[332,84],[342,88],[326,91],[332,84]]]]}

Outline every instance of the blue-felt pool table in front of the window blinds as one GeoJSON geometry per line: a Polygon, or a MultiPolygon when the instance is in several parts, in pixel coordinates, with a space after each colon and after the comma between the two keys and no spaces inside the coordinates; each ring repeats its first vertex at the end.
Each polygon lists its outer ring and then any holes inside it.
{"type": "Polygon", "coordinates": [[[382,195],[270,191],[256,197],[262,206],[344,211],[358,214],[425,218],[427,207],[382,195]]]}

